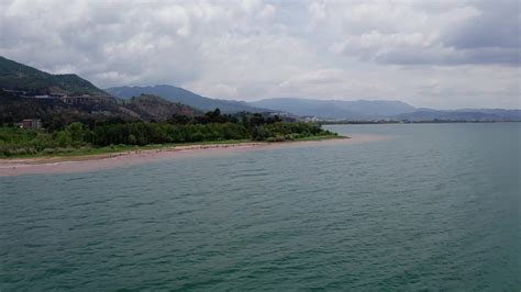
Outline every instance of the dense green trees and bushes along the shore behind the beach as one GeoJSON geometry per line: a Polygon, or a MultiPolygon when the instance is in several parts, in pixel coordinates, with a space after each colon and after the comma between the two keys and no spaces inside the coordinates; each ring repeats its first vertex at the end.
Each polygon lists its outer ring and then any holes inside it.
{"type": "Polygon", "coordinates": [[[173,116],[165,123],[123,120],[80,123],[63,130],[0,127],[0,156],[75,153],[120,145],[179,144],[219,141],[281,142],[335,134],[319,124],[281,122],[260,114],[222,115],[219,110],[204,115],[173,116]]]}

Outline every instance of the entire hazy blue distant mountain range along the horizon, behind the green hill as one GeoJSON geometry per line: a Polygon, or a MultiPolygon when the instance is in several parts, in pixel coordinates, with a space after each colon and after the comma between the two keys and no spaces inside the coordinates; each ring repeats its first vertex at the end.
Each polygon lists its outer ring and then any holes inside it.
{"type": "Polygon", "coordinates": [[[219,100],[199,96],[174,86],[114,87],[107,92],[121,99],[138,94],[155,94],[171,102],[179,102],[202,111],[215,108],[226,113],[281,112],[297,116],[313,116],[326,120],[410,120],[410,121],[519,121],[519,110],[433,110],[418,109],[397,100],[309,100],[295,98],[264,99],[254,102],[219,100]]]}

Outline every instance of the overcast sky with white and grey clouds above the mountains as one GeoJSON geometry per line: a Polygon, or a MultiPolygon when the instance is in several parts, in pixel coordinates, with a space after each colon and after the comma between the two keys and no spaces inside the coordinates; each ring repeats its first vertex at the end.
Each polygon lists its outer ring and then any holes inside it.
{"type": "Polygon", "coordinates": [[[520,108],[518,0],[0,0],[0,55],[101,88],[520,108]]]}

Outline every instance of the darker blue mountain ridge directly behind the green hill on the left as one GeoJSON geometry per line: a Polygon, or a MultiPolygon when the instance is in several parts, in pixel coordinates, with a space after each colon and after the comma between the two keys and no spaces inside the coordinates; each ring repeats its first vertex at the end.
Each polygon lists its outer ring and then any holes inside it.
{"type": "Polygon", "coordinates": [[[174,86],[153,86],[153,87],[112,87],[106,89],[110,94],[120,99],[130,99],[141,94],[154,94],[162,97],[170,102],[182,103],[201,111],[213,111],[220,109],[223,113],[236,112],[269,112],[271,110],[256,108],[244,101],[210,99],[186,89],[174,86]]]}

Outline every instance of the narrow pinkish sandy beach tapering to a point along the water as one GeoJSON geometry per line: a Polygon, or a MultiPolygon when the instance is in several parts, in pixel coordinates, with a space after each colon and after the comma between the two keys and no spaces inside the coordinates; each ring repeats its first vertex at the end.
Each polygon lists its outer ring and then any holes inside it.
{"type": "Polygon", "coordinates": [[[0,159],[0,177],[22,176],[22,175],[44,175],[84,172],[115,167],[125,167],[162,160],[173,157],[211,156],[234,154],[244,150],[255,150],[262,148],[277,147],[301,147],[314,144],[355,144],[388,139],[388,136],[358,135],[342,139],[324,139],[309,142],[246,142],[237,144],[206,144],[206,145],[182,145],[165,147],[160,149],[147,149],[137,151],[122,151],[102,155],[87,156],[59,156],[59,157],[37,157],[37,158],[7,158],[0,159]]]}

